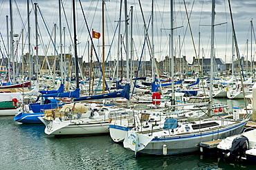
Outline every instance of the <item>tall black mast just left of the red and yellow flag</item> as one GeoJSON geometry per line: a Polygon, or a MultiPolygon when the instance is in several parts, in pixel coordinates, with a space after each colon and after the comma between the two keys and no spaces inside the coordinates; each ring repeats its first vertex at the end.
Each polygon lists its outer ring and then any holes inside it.
{"type": "Polygon", "coordinates": [[[77,39],[76,39],[76,26],[75,26],[75,0],[73,0],[72,4],[73,4],[73,27],[74,27],[74,48],[75,48],[75,80],[76,80],[76,87],[79,88],[77,39]]]}

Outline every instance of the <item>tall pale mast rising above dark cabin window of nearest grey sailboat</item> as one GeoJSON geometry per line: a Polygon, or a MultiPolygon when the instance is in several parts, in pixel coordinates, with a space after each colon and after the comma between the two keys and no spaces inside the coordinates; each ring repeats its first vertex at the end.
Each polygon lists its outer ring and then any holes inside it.
{"type": "Polygon", "coordinates": [[[212,25],[211,25],[211,48],[210,48],[210,116],[212,116],[212,81],[214,64],[214,19],[215,19],[215,0],[212,0],[212,25]]]}

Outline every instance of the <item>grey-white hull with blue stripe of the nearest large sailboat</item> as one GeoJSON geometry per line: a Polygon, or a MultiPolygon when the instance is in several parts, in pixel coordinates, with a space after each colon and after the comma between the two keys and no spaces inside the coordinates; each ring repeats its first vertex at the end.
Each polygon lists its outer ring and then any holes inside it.
{"type": "Polygon", "coordinates": [[[199,151],[198,145],[200,142],[217,140],[220,138],[226,138],[228,136],[239,134],[241,133],[241,131],[243,131],[245,125],[246,122],[242,122],[225,128],[212,128],[212,130],[210,131],[207,130],[197,133],[181,133],[174,135],[172,135],[172,132],[170,131],[165,131],[165,133],[163,133],[164,131],[162,131],[161,133],[163,135],[156,135],[154,133],[151,135],[150,133],[141,134],[139,132],[132,134],[131,132],[129,132],[124,140],[124,147],[127,149],[131,149],[136,153],[164,155],[163,146],[166,145],[167,155],[189,153],[192,151],[199,151]],[[169,133],[170,136],[166,136],[169,133]],[[148,142],[149,137],[152,138],[150,142],[148,142]],[[138,146],[134,147],[135,145],[138,146]]]}

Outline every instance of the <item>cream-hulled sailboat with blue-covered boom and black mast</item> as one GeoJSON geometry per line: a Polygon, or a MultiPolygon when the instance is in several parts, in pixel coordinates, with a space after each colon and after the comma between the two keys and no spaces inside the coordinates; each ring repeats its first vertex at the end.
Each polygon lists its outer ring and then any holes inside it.
{"type": "MultiPolygon", "coordinates": [[[[73,3],[74,6],[74,3],[73,3]]],[[[73,14],[75,17],[75,12],[73,14]]],[[[75,21],[75,19],[74,19],[75,21]]],[[[75,23],[74,23],[74,34],[75,23]]],[[[90,34],[91,37],[91,34],[90,34]]],[[[76,51],[76,46],[75,46],[76,51]]],[[[77,76],[78,77],[78,76],[77,76]]],[[[104,88],[103,88],[104,89],[104,88]]],[[[95,96],[81,96],[73,100],[75,107],[77,102],[84,100],[99,100],[106,98],[123,97],[129,100],[130,85],[127,84],[120,92],[113,92],[109,94],[100,94],[95,96]]],[[[93,107],[91,110],[82,113],[82,116],[73,116],[73,109],[71,109],[66,116],[55,118],[49,123],[44,132],[48,135],[95,135],[109,133],[109,118],[111,114],[124,113],[126,115],[126,109],[116,109],[113,107],[93,107]]]]}

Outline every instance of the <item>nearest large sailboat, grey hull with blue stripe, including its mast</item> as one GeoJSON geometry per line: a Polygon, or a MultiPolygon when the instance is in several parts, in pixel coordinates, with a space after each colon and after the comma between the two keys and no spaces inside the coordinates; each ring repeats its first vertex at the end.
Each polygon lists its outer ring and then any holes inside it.
{"type": "MultiPolygon", "coordinates": [[[[212,29],[211,29],[211,61],[214,51],[214,6],[212,0],[212,29]]],[[[173,0],[171,1],[171,11],[173,0]]],[[[172,19],[171,19],[172,21],[172,19]]],[[[211,67],[211,74],[213,67],[211,67]]],[[[211,76],[211,82],[212,82],[211,76]]],[[[211,87],[212,89],[212,84],[211,87]]],[[[210,90],[212,96],[212,90],[210,90]]],[[[210,98],[210,113],[212,112],[212,98],[210,98]]],[[[174,155],[199,151],[199,143],[230,135],[240,134],[248,120],[229,120],[224,118],[200,117],[166,118],[160,122],[148,122],[147,125],[136,125],[125,136],[123,145],[137,153],[154,155],[174,155]]]]}

